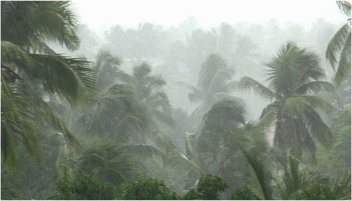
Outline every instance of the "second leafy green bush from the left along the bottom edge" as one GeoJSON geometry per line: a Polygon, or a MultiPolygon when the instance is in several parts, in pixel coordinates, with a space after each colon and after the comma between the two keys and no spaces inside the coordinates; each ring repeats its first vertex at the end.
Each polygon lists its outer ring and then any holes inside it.
{"type": "Polygon", "coordinates": [[[124,184],[120,189],[120,199],[178,199],[175,192],[171,192],[163,181],[156,178],[137,178],[124,184]]]}

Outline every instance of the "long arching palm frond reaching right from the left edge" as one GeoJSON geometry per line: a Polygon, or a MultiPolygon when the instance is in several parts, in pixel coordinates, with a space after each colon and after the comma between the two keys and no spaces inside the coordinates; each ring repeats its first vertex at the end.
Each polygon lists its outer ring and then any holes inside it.
{"type": "Polygon", "coordinates": [[[8,41],[2,41],[2,57],[2,65],[15,64],[16,71],[41,79],[48,92],[65,96],[71,104],[78,98],[79,84],[97,93],[93,69],[84,59],[31,54],[8,41]]]}

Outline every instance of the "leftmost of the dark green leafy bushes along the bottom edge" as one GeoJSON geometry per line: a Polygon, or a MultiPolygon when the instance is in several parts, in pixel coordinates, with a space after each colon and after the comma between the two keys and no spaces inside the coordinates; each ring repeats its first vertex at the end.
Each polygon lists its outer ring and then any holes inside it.
{"type": "Polygon", "coordinates": [[[63,178],[56,183],[55,199],[114,199],[111,184],[100,182],[86,173],[78,173],[73,179],[63,178]]]}

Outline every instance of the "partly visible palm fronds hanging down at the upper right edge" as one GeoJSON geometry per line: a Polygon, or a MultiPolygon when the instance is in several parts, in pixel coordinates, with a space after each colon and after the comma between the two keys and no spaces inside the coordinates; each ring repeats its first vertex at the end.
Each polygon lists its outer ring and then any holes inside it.
{"type": "Polygon", "coordinates": [[[339,86],[348,78],[351,71],[351,4],[346,1],[336,1],[336,4],[348,19],[330,40],[326,49],[326,59],[336,72],[334,81],[339,86]]]}

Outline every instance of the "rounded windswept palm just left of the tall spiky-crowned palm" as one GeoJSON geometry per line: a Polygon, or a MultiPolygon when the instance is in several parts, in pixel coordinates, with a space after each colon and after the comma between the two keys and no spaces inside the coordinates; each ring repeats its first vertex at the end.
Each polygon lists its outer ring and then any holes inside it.
{"type": "MultiPolygon", "coordinates": [[[[251,174],[249,164],[238,162],[246,160],[241,146],[255,146],[258,152],[265,152],[262,148],[268,146],[266,125],[262,121],[248,122],[246,116],[241,99],[220,100],[204,115],[199,132],[189,135],[186,142],[188,157],[203,172],[224,178],[229,190],[241,182],[253,182],[248,179],[251,174]]],[[[189,178],[193,178],[192,175],[189,178]]],[[[230,195],[228,190],[225,193],[230,195]]]]}

